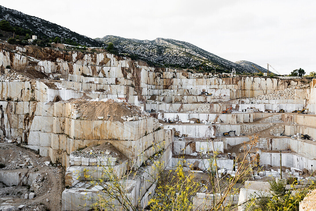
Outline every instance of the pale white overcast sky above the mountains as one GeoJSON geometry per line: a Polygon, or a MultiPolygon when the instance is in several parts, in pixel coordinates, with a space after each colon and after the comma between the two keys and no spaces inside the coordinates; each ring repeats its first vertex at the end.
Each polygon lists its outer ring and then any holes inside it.
{"type": "Polygon", "coordinates": [[[316,1],[3,1],[91,38],[187,41],[230,61],[269,63],[281,74],[316,71],[316,1]]]}

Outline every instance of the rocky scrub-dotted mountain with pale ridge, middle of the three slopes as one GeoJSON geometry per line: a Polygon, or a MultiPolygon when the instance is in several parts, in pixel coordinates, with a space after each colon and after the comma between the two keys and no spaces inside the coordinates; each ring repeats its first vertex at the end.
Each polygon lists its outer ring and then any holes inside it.
{"type": "Polygon", "coordinates": [[[156,38],[155,40],[126,39],[119,36],[107,35],[96,40],[104,43],[112,42],[121,53],[129,53],[139,56],[144,60],[149,60],[165,66],[193,67],[205,64],[210,69],[235,68],[237,71],[249,72],[247,67],[216,56],[191,43],[156,38]]]}

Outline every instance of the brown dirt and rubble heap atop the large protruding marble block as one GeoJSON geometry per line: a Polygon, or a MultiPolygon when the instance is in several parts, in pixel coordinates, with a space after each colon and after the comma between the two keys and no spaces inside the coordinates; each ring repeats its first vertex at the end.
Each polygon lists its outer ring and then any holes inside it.
{"type": "MultiPolygon", "coordinates": [[[[83,96],[84,97],[84,96],[83,96]]],[[[103,101],[87,101],[84,99],[73,99],[69,102],[75,103],[79,114],[89,120],[100,120],[98,117],[103,117],[106,121],[120,121],[124,122],[122,116],[144,116],[145,114],[137,106],[129,103],[118,103],[109,99],[103,101]]]]}

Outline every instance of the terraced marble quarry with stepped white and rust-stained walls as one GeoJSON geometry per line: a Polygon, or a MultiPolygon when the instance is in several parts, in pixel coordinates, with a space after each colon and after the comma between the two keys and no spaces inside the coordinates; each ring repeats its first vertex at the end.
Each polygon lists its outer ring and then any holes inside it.
{"type": "MultiPolygon", "coordinates": [[[[64,211],[90,209],[89,198],[102,194],[91,178],[103,177],[104,169],[118,178],[136,172],[122,183],[126,197],[142,208],[155,193],[156,177],[148,173],[157,174],[155,161],[162,168],[181,164],[205,173],[215,165],[209,153],[216,152],[218,170],[231,170],[234,176],[238,164],[227,153],[249,148],[254,136],[258,143],[250,161],[258,155],[260,164],[277,167],[277,151],[283,150],[289,151],[284,166],[316,171],[316,79],[213,77],[150,67],[111,53],[5,42],[0,43],[0,70],[0,136],[65,168],[64,211]],[[302,109],[308,110],[292,113],[302,109]],[[310,139],[301,139],[302,134],[310,139]]],[[[277,171],[258,173],[253,180],[280,176],[277,171]]],[[[0,177],[15,183],[5,178],[13,175],[0,172],[0,177]]],[[[242,188],[228,203],[244,202],[255,190],[242,188]]],[[[209,208],[213,197],[198,192],[194,206],[200,209],[206,200],[209,208]]]]}

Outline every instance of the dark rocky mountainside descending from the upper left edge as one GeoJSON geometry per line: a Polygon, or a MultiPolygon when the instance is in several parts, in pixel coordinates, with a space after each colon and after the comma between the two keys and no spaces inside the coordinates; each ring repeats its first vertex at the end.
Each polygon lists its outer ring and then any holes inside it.
{"type": "Polygon", "coordinates": [[[1,5],[0,20],[7,20],[13,26],[28,28],[39,36],[63,37],[65,39],[72,39],[77,43],[91,47],[100,47],[104,45],[97,40],[73,32],[68,28],[59,26],[55,23],[43,20],[35,16],[26,15],[14,9],[5,8],[1,5]]]}

